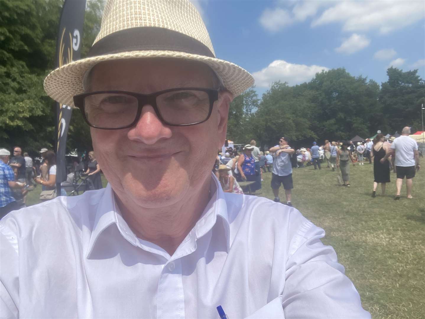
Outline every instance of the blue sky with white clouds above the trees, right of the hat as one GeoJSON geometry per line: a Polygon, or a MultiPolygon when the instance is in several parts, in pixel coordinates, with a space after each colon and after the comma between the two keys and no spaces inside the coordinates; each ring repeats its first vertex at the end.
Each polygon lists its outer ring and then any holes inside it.
{"type": "Polygon", "coordinates": [[[393,65],[425,79],[425,1],[192,0],[218,58],[245,68],[258,93],[345,67],[379,84],[393,65]]]}

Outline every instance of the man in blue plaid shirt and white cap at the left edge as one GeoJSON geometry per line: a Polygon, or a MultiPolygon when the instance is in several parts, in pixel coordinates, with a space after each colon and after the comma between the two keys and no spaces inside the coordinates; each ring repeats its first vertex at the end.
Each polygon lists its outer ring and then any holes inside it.
{"type": "Polygon", "coordinates": [[[19,208],[13,197],[11,188],[23,188],[25,184],[15,182],[13,169],[7,165],[10,152],[4,148],[0,149],[0,219],[8,212],[19,208]]]}

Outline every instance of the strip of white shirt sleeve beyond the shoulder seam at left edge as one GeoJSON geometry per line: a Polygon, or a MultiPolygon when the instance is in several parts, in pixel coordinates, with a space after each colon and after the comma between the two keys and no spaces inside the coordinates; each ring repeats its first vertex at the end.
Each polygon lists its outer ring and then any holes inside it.
{"type": "Polygon", "coordinates": [[[19,279],[16,235],[0,226],[0,318],[19,317],[19,279]]]}

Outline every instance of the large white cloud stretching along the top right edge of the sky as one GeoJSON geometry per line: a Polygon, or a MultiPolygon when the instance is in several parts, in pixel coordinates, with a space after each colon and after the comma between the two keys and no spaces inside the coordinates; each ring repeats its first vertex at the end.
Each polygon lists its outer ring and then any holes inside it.
{"type": "Polygon", "coordinates": [[[274,8],[266,8],[261,13],[260,23],[268,31],[279,31],[287,25],[312,19],[312,27],[340,23],[347,32],[385,34],[424,17],[425,7],[420,0],[300,0],[275,2],[274,8]]]}

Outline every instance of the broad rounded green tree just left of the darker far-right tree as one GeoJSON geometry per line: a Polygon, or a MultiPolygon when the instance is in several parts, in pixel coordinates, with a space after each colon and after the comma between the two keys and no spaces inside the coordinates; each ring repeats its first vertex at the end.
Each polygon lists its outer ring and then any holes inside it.
{"type": "Polygon", "coordinates": [[[380,127],[382,105],[378,101],[379,85],[366,77],[351,76],[344,68],[317,73],[308,83],[315,93],[311,129],[321,138],[350,139],[369,136],[380,127]]]}

